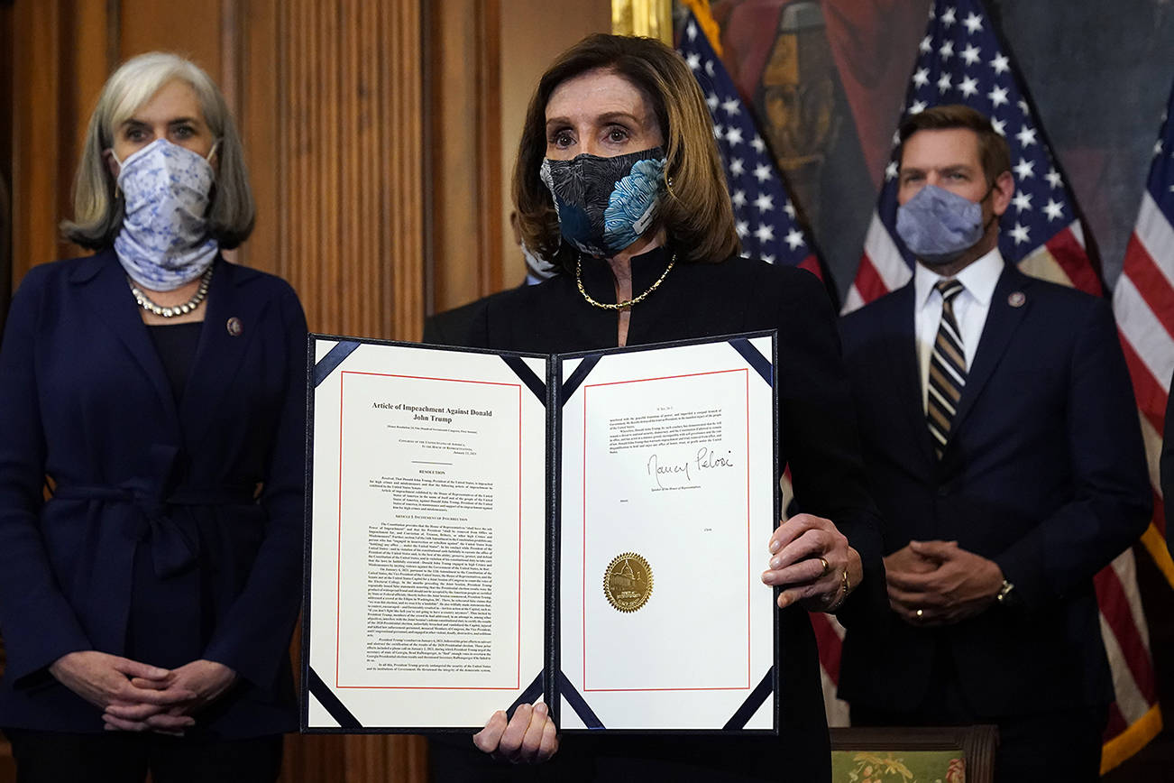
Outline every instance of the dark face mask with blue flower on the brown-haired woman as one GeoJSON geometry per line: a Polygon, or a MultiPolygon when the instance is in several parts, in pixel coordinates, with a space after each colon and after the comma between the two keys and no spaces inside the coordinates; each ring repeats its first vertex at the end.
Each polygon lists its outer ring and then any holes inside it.
{"type": "Polygon", "coordinates": [[[664,193],[664,150],[546,158],[539,175],[554,198],[564,238],[592,256],[614,256],[656,220],[664,193]]]}

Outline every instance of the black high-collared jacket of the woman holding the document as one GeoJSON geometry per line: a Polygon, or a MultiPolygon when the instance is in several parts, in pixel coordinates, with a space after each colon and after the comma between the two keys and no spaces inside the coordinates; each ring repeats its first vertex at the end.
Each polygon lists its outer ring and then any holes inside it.
{"type": "MultiPolygon", "coordinates": [[[[634,258],[633,290],[648,289],[668,261],[662,250],[634,258]]],[[[582,278],[596,301],[615,302],[606,264],[585,262],[582,278]]],[[[628,344],[767,329],[778,330],[780,458],[790,465],[803,509],[834,520],[864,562],[863,583],[838,613],[852,625],[886,606],[880,538],[873,504],[864,491],[835,316],[818,278],[747,258],[677,263],[660,288],[632,309],[628,344]]],[[[614,347],[616,313],[587,304],[574,276],[560,275],[490,303],[471,340],[478,346],[541,353],[614,347]]],[[[765,541],[762,546],[764,569],[769,554],[765,541]]],[[[606,760],[622,760],[614,765],[650,769],[652,779],[727,779],[723,772],[763,779],[781,775],[795,781],[828,779],[830,748],[808,613],[784,609],[780,626],[781,736],[568,736],[554,762],[544,765],[547,776],[607,779],[606,760]]]]}

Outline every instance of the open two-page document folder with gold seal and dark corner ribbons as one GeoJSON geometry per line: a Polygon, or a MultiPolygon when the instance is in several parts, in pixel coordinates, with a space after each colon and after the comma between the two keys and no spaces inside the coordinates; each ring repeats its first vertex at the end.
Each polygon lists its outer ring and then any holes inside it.
{"type": "Polygon", "coordinates": [[[775,336],[311,336],[303,730],[776,731],[775,336]]]}

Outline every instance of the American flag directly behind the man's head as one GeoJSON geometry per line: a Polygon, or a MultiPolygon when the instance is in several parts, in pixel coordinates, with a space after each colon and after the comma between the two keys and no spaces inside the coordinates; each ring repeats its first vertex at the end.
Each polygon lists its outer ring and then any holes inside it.
{"type": "MultiPolygon", "coordinates": [[[[1025,100],[1023,81],[979,0],[935,0],[930,7],[903,116],[946,103],[964,103],[991,117],[991,124],[1011,147],[1016,195],[1000,222],[1003,257],[1028,275],[1101,293],[1100,276],[1085,250],[1072,191],[1055,167],[1025,100]]],[[[864,241],[864,257],[844,302],[845,312],[900,288],[912,276],[913,257],[897,237],[896,225],[893,160],[885,169],[877,211],[864,241]]]]}

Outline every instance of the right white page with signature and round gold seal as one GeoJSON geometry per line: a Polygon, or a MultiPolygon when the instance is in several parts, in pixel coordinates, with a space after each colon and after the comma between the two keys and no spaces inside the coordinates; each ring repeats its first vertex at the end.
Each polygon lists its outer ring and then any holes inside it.
{"type": "Polygon", "coordinates": [[[605,356],[564,405],[561,668],[605,727],[721,728],[769,670],[771,411],[727,343],[605,356]]]}

